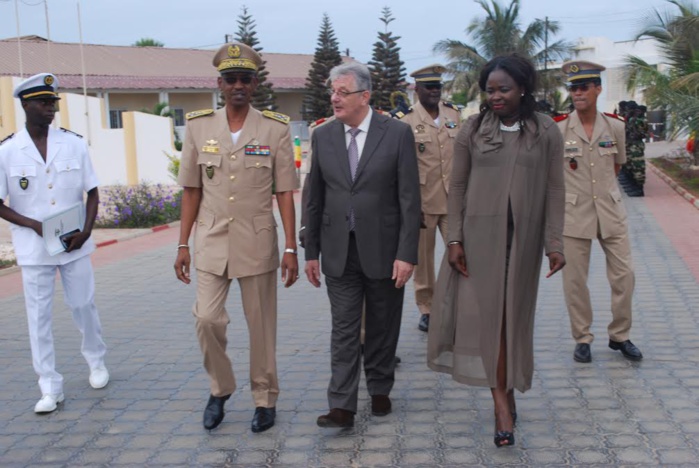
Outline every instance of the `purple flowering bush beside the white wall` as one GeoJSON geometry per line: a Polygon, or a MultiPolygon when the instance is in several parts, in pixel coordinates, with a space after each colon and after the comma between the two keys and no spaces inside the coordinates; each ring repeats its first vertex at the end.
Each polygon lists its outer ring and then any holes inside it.
{"type": "Polygon", "coordinates": [[[100,199],[100,228],[148,228],[180,219],[182,191],[162,184],[115,185],[102,191],[100,199]]]}

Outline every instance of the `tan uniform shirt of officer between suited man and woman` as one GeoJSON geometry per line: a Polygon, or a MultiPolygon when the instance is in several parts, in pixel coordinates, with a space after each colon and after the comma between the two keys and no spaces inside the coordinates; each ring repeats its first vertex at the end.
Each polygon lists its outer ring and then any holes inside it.
{"type": "Polygon", "coordinates": [[[440,102],[437,125],[418,101],[401,120],[409,124],[415,134],[422,212],[447,214],[454,139],[461,128],[461,114],[451,104],[440,102]]]}

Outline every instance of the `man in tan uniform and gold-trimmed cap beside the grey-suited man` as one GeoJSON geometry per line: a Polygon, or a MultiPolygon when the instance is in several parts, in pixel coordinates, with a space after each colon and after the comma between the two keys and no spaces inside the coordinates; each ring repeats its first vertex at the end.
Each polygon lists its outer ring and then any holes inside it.
{"type": "Polygon", "coordinates": [[[231,281],[240,285],[250,333],[250,385],[255,402],[252,431],[274,425],[279,394],[276,369],[277,268],[280,266],[272,190],[284,227],[281,277],[286,287],[298,278],[293,191],[298,179],[289,118],[250,106],[262,60],[250,47],[221,47],[213,64],[220,72],[225,107],[187,115],[179,183],[184,187],[175,272],[189,284],[194,233],[197,269],[196,330],[211,379],[204,427],[223,420],[223,406],[236,389],[226,354],[225,303],[231,281]]]}

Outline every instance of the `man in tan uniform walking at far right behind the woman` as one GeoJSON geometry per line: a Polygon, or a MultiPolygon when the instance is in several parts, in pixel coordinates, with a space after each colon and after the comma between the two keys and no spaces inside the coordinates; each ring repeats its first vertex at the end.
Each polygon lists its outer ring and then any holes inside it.
{"type": "Polygon", "coordinates": [[[623,119],[597,110],[605,68],[585,61],[563,64],[575,110],[558,118],[565,140],[566,213],[563,290],[573,338],[573,358],[590,362],[593,335],[592,305],[587,288],[590,247],[597,239],[607,259],[607,277],[612,288],[612,321],[607,330],[609,347],[627,359],[638,361],[641,351],[629,340],[634,271],[626,222],[626,209],[617,184],[617,174],[626,162],[623,119]]]}

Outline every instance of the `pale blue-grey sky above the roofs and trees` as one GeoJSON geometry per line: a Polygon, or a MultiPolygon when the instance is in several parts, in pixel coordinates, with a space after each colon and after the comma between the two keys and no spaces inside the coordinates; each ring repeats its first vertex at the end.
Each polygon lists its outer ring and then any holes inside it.
{"type": "MultiPolygon", "coordinates": [[[[509,5],[509,0],[499,1],[509,5]]],[[[0,38],[16,37],[19,23],[20,35],[79,42],[82,25],[85,43],[131,45],[151,37],[165,47],[215,49],[226,34],[236,33],[243,5],[256,21],[263,52],[313,54],[327,13],[340,50],[349,49],[351,56],[365,63],[384,29],[381,10],[388,6],[394,17],[389,31],[400,36],[407,73],[443,62],[432,52],[434,44],[447,38],[470,42],[466,27],[485,16],[471,0],[0,0],[0,38]]],[[[575,42],[602,36],[624,41],[634,38],[653,9],[670,7],[665,0],[521,0],[520,18],[522,26],[547,16],[557,21],[560,32],[553,39],[575,42]]]]}

